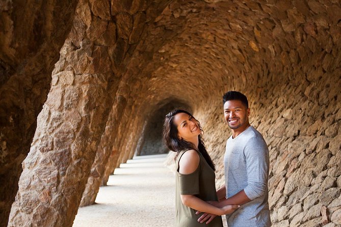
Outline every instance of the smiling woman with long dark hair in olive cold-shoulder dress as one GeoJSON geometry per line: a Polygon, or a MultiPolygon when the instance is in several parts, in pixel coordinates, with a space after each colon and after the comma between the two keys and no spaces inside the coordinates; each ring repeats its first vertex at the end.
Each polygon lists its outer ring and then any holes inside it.
{"type": "Polygon", "coordinates": [[[166,146],[177,152],[176,226],[222,227],[220,215],[232,213],[239,206],[215,207],[205,201],[218,201],[215,165],[202,141],[199,122],[186,110],[174,109],[166,115],[163,138],[166,146]],[[206,223],[198,222],[196,211],[212,214],[206,223]],[[215,215],[219,215],[215,217],[215,215]]]}

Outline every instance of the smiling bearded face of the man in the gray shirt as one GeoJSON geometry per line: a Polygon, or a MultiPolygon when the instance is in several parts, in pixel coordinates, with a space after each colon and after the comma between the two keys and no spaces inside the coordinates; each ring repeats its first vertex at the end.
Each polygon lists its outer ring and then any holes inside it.
{"type": "Polygon", "coordinates": [[[238,129],[248,124],[250,109],[240,100],[229,100],[224,103],[224,118],[230,129],[238,129]]]}

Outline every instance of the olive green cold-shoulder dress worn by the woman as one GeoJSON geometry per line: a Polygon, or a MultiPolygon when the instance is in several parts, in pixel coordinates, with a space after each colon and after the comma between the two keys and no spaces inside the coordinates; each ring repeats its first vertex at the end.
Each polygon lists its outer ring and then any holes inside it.
{"type": "Polygon", "coordinates": [[[223,227],[221,216],[215,217],[210,223],[206,224],[198,222],[201,214],[196,215],[195,210],[182,204],[180,194],[182,195],[196,195],[203,201],[218,201],[216,192],[216,174],[211,166],[208,165],[205,158],[198,152],[200,163],[198,168],[192,174],[179,173],[179,160],[183,153],[181,151],[176,160],[176,227],[196,227],[196,226],[210,226],[223,227]]]}

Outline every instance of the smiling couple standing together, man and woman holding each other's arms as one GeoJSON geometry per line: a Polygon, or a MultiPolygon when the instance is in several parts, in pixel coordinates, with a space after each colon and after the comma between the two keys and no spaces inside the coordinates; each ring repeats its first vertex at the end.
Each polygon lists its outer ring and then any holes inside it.
{"type": "Polygon", "coordinates": [[[223,95],[223,105],[232,135],[227,139],[224,156],[225,185],[217,191],[216,168],[203,143],[200,123],[181,109],[172,110],[165,118],[165,143],[177,152],[177,227],[222,227],[220,215],[224,214],[228,227],[271,225],[267,144],[250,126],[245,95],[229,91],[223,95]]]}

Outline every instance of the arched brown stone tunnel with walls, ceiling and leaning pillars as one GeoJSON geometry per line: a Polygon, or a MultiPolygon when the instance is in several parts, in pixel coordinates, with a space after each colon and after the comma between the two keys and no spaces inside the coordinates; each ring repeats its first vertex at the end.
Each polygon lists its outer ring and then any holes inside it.
{"type": "Polygon", "coordinates": [[[168,152],[176,106],[221,186],[228,90],[269,147],[273,226],[338,226],[340,36],[339,0],[2,1],[0,226],[72,226],[120,163],[168,152]]]}

